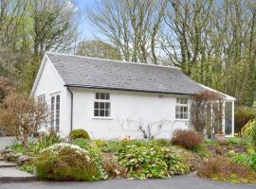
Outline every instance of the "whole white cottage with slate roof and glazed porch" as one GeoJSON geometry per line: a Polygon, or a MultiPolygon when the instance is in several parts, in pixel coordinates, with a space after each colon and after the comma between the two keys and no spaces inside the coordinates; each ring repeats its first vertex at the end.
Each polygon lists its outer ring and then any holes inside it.
{"type": "MultiPolygon", "coordinates": [[[[50,125],[63,135],[141,138],[138,128],[150,126],[156,138],[170,138],[190,126],[192,96],[205,90],[212,89],[176,68],[46,53],[30,95],[46,102],[50,125]]],[[[231,136],[235,98],[224,95],[223,131],[231,136]]]]}

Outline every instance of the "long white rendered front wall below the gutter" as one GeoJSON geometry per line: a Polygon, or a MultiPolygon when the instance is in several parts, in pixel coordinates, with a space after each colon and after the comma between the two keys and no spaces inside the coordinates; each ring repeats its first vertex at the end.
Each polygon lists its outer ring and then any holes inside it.
{"type": "MultiPolygon", "coordinates": [[[[127,124],[127,119],[144,124],[163,122],[164,127],[160,129],[156,138],[170,138],[174,129],[189,127],[189,120],[175,120],[176,96],[174,95],[82,88],[72,88],[71,90],[74,93],[73,129],[86,129],[92,138],[117,139],[122,136],[141,138],[141,133],[135,129],[136,124],[131,124],[131,129],[127,124]],[[94,117],[96,92],[110,93],[111,118],[94,117]]],[[[189,100],[189,104],[191,104],[191,100],[189,100]]]]}

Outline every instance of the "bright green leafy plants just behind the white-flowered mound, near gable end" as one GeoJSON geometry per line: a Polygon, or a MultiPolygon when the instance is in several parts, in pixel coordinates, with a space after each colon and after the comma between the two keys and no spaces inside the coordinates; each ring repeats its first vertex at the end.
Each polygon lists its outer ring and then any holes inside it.
{"type": "Polygon", "coordinates": [[[52,146],[54,144],[62,143],[63,140],[56,133],[51,133],[49,135],[42,136],[37,143],[32,146],[34,148],[34,152],[38,153],[42,149],[45,149],[48,146],[52,146]]]}

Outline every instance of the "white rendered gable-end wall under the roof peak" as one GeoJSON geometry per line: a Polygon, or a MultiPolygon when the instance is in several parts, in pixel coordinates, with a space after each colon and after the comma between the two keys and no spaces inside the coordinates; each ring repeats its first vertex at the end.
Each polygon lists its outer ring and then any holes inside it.
{"type": "Polygon", "coordinates": [[[60,94],[60,132],[69,133],[70,130],[70,96],[64,87],[62,78],[58,75],[50,60],[46,59],[42,75],[34,92],[34,97],[45,94],[46,104],[50,110],[50,98],[52,95],[60,94]]]}

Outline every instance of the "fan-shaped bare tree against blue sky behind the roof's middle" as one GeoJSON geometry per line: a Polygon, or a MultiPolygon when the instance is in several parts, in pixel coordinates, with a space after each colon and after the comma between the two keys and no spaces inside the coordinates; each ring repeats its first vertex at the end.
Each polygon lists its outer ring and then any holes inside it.
{"type": "Polygon", "coordinates": [[[101,35],[120,49],[124,60],[157,63],[157,38],[165,8],[165,0],[107,0],[87,13],[101,35]]]}

